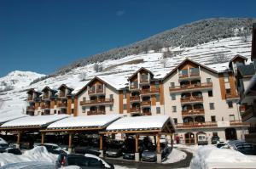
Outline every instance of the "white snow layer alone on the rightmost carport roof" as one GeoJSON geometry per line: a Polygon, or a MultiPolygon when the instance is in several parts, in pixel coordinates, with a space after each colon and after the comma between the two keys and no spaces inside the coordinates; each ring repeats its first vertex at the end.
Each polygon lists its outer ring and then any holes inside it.
{"type": "Polygon", "coordinates": [[[124,117],[110,124],[107,130],[161,128],[168,119],[170,119],[168,115],[124,117]]]}

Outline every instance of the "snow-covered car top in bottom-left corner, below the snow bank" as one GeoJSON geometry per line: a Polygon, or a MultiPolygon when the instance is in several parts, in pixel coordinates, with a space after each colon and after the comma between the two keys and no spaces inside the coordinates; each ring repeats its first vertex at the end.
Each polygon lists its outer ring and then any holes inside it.
{"type": "Polygon", "coordinates": [[[55,169],[56,166],[54,164],[50,164],[49,162],[38,162],[38,161],[29,161],[29,162],[18,162],[7,164],[5,166],[0,166],[0,169],[55,169]]]}

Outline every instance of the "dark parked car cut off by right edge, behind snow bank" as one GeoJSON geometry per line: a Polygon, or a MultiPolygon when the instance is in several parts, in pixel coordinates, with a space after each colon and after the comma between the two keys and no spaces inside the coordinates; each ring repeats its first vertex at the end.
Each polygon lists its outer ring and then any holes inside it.
{"type": "Polygon", "coordinates": [[[236,149],[244,155],[256,155],[256,149],[254,149],[253,144],[240,140],[230,141],[228,144],[230,149],[236,149]]]}

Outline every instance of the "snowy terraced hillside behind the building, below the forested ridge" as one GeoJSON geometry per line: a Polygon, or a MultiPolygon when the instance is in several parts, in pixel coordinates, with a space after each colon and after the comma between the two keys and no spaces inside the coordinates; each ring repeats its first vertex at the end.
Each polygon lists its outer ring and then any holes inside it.
{"type": "MultiPolygon", "coordinates": [[[[166,48],[163,49],[163,51],[165,50],[166,48]]],[[[68,87],[73,87],[75,89],[73,92],[75,93],[79,88],[83,87],[86,82],[89,82],[91,78],[100,76],[114,87],[121,88],[127,85],[127,77],[131,76],[132,73],[141,67],[153,71],[156,78],[161,78],[166,76],[166,73],[170,72],[185,58],[193,59],[201,64],[210,66],[214,70],[225,70],[228,67],[228,60],[233,58],[236,54],[241,54],[247,58],[250,57],[251,37],[248,42],[244,42],[242,37],[230,37],[219,41],[207,42],[195,47],[170,48],[170,50],[177,55],[172,58],[163,59],[163,53],[150,51],[149,54],[137,54],[122,59],[106,60],[99,64],[103,67],[101,72],[96,72],[93,69],[93,64],[85,65],[73,69],[65,75],[50,77],[34,83],[31,86],[28,85],[32,81],[32,78],[42,75],[35,74],[33,76],[23,77],[19,76],[18,71],[15,71],[17,73],[11,73],[0,79],[0,82],[19,80],[14,84],[9,83],[15,87],[13,90],[0,93],[0,115],[20,115],[25,113],[26,89],[32,87],[42,90],[45,86],[57,88],[60,87],[62,83],[65,83],[68,87]],[[224,63],[218,64],[216,58],[222,59],[224,63]],[[14,77],[17,78],[11,78],[12,74],[15,74],[14,77]]]]}

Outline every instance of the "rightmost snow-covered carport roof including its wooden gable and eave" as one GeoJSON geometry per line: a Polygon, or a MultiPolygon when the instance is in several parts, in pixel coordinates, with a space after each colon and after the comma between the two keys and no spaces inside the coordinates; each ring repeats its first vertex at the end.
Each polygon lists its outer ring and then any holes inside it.
{"type": "Polygon", "coordinates": [[[102,133],[175,132],[175,126],[168,115],[124,117],[110,124],[102,133]]]}

